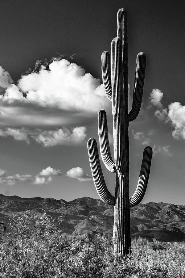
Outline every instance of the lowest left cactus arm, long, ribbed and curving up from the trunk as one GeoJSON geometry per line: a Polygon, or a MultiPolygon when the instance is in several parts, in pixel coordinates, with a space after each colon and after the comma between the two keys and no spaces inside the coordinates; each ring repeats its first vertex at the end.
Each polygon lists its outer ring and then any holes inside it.
{"type": "Polygon", "coordinates": [[[97,142],[90,138],[87,143],[89,162],[92,171],[92,178],[100,198],[107,204],[114,204],[114,196],[107,189],[105,179],[101,170],[100,158],[98,154],[97,142]]]}

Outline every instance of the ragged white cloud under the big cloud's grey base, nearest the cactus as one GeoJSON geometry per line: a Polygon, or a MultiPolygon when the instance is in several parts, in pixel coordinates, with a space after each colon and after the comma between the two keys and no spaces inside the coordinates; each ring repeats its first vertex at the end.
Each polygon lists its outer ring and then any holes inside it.
{"type": "Polygon", "coordinates": [[[87,136],[85,132],[85,127],[76,127],[72,131],[69,131],[67,128],[59,128],[57,131],[43,131],[32,138],[44,147],[55,145],[80,145],[87,136]]]}

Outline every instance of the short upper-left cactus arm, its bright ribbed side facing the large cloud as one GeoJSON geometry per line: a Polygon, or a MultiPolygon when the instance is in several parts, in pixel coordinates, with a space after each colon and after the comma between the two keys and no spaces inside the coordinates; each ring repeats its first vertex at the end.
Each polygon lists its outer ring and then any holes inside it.
{"type": "Polygon", "coordinates": [[[104,51],[101,55],[101,71],[102,80],[105,94],[108,99],[112,100],[112,90],[111,90],[111,73],[110,73],[110,54],[108,51],[104,51]]]}

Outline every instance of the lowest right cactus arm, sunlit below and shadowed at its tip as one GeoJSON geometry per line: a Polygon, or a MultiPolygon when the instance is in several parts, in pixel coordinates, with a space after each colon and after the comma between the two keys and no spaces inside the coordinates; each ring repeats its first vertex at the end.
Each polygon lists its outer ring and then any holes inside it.
{"type": "Polygon", "coordinates": [[[139,204],[146,192],[146,187],[148,184],[149,174],[150,174],[150,165],[152,159],[152,148],[146,147],[143,152],[143,159],[141,164],[141,171],[139,175],[138,185],[136,191],[130,198],[130,207],[134,207],[139,204]]]}

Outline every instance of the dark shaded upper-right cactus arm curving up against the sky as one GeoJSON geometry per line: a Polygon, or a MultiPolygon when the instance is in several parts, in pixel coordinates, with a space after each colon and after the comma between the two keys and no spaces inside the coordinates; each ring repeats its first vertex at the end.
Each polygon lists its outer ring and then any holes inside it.
{"type": "Polygon", "coordinates": [[[139,114],[141,103],[143,86],[145,80],[145,67],[146,67],[146,57],[143,52],[138,53],[136,60],[136,73],[135,73],[135,84],[134,84],[134,94],[132,108],[129,112],[129,120],[133,121],[139,114]]]}

